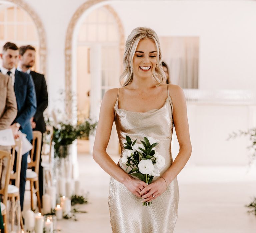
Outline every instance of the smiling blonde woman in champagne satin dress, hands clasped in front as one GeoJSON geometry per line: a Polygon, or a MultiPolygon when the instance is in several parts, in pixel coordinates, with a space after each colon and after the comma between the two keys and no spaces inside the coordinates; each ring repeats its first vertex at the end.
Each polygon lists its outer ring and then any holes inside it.
{"type": "Polygon", "coordinates": [[[173,232],[179,201],[176,176],[188,161],[192,147],[186,100],[179,86],[163,84],[161,50],[156,33],[149,28],[135,28],[128,36],[124,54],[122,88],[106,92],[93,149],[95,161],[111,176],[109,209],[114,233],[173,232]],[[150,136],[159,140],[156,149],[165,157],[159,177],[147,185],[127,174],[125,166],[115,164],[106,152],[115,121],[124,153],[125,135],[133,140],[150,136]],[[171,139],[175,126],[180,150],[173,161],[171,139]],[[154,200],[154,201],[153,201],[154,200]],[[150,206],[142,202],[153,201],[150,206]]]}

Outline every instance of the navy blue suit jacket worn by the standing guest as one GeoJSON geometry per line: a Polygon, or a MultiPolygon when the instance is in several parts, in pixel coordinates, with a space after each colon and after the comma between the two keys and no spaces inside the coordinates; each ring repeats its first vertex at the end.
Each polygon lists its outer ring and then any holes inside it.
{"type": "Polygon", "coordinates": [[[17,101],[18,113],[13,122],[21,125],[21,132],[27,134],[27,139],[33,139],[30,118],[36,113],[36,92],[29,74],[16,70],[14,92],[17,101]]]}

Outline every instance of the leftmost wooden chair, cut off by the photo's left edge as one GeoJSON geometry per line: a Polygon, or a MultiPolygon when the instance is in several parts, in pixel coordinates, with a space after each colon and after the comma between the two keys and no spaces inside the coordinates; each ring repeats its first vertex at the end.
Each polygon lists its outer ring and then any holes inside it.
{"type": "Polygon", "coordinates": [[[11,173],[11,153],[0,150],[0,180],[2,176],[2,170],[3,170],[3,159],[6,158],[6,176],[5,176],[5,184],[4,187],[1,187],[0,189],[0,195],[2,195],[3,202],[1,202],[1,212],[4,220],[4,232],[8,232],[8,226],[7,226],[7,198],[8,198],[8,184],[10,182],[10,173],[11,173]]]}

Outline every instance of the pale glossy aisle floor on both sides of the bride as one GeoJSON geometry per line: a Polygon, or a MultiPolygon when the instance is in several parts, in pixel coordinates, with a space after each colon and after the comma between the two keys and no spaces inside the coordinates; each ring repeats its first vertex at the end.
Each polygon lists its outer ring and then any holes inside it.
{"type": "MultiPolygon", "coordinates": [[[[89,192],[89,204],[80,210],[87,213],[77,214],[78,221],[58,221],[58,227],[62,233],[111,233],[109,176],[90,155],[80,154],[78,159],[81,187],[89,192]]],[[[244,206],[256,196],[255,167],[186,166],[178,182],[180,202],[174,233],[256,232],[256,216],[248,214],[244,206]]]]}

